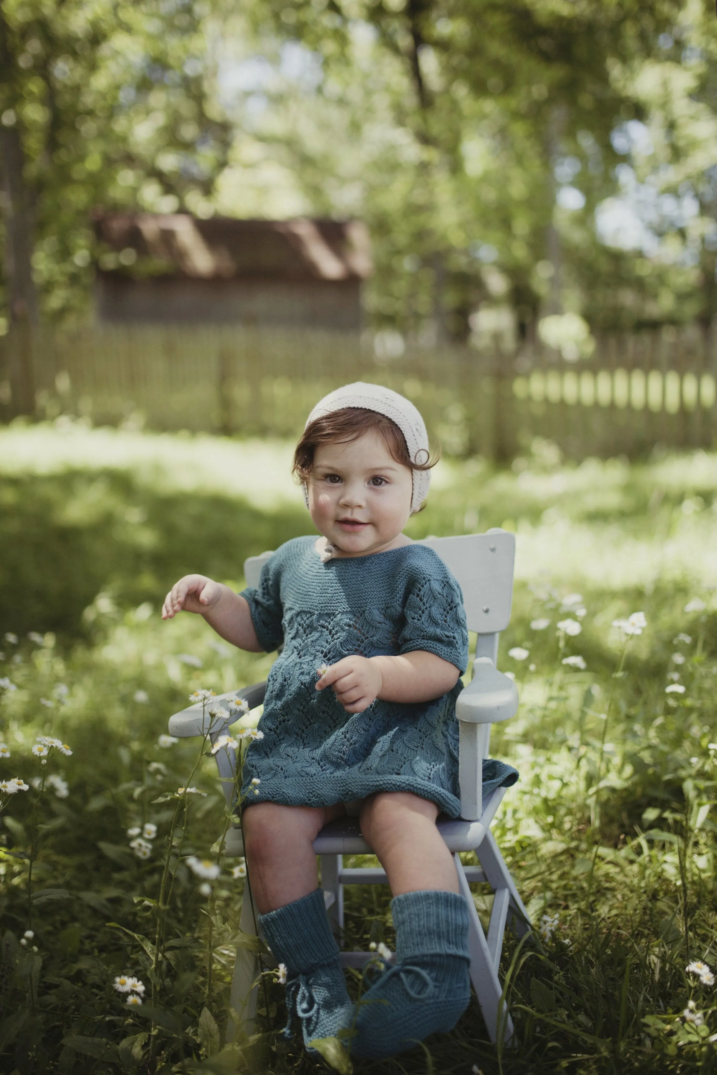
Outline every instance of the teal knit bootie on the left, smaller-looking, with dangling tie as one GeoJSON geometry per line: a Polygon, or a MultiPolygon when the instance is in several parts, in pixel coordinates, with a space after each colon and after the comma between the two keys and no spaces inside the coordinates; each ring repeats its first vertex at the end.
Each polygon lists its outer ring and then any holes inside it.
{"type": "Polygon", "coordinates": [[[259,915],[269,947],[287,970],[284,1031],[291,1036],[291,1020],[301,1020],[304,1045],[316,1037],[335,1037],[350,1026],[354,1005],[339,965],[339,946],[326,915],[324,892],[317,889],[301,900],[259,915]]]}

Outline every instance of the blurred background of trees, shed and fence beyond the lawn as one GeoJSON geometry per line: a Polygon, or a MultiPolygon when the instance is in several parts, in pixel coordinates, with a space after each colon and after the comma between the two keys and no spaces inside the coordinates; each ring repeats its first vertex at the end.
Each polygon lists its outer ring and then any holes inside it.
{"type": "Polygon", "coordinates": [[[709,447],[716,75],[702,0],[4,0],[0,419],[709,447]]]}

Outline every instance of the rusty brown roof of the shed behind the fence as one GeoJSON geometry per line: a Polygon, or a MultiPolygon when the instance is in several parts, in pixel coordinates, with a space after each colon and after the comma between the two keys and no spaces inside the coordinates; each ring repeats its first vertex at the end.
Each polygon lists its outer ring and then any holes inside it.
{"type": "MultiPolygon", "coordinates": [[[[97,238],[111,250],[177,277],[364,280],[372,272],[369,232],[359,220],[200,220],[187,213],[103,213],[97,238]]],[[[120,259],[130,268],[131,263],[120,259]]]]}

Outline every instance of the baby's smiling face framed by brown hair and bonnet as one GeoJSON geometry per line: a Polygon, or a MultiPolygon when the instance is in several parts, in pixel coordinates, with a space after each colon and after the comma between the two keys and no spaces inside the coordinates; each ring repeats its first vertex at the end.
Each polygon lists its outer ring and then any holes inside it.
{"type": "Polygon", "coordinates": [[[377,430],[348,444],[316,449],[309,482],[314,526],[344,556],[383,553],[411,514],[413,476],[397,463],[377,430]]]}

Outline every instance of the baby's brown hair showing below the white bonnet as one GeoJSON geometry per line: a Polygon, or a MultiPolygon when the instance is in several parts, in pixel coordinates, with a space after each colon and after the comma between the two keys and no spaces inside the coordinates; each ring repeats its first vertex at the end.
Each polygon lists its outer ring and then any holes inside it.
{"type": "Polygon", "coordinates": [[[359,436],[363,436],[370,429],[378,430],[386,442],[391,459],[407,467],[411,471],[430,470],[439,461],[436,456],[434,459],[429,457],[422,463],[414,462],[408,455],[405,438],[395,421],[377,411],[347,406],[342,407],[341,411],[332,411],[331,414],[314,418],[306,426],[293,453],[291,472],[300,482],[307,482],[314,465],[314,453],[319,445],[348,444],[350,441],[358,441],[359,436]]]}

